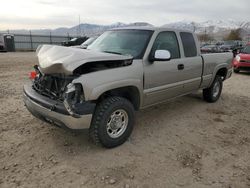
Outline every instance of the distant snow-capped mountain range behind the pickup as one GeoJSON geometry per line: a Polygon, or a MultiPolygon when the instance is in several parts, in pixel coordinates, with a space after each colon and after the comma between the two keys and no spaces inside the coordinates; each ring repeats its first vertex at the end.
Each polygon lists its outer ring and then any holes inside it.
{"type": "MultiPolygon", "coordinates": [[[[122,23],[117,22],[111,25],[97,25],[97,24],[89,24],[82,23],[80,25],[76,25],[74,27],[61,27],[54,30],[50,29],[38,29],[32,30],[32,34],[39,35],[70,35],[70,36],[79,36],[79,35],[99,35],[104,31],[112,28],[118,27],[129,27],[129,26],[153,26],[147,22],[135,22],[135,23],[122,23]]],[[[193,22],[193,21],[179,21],[173,22],[163,25],[163,27],[168,28],[178,28],[178,29],[187,29],[190,31],[195,31],[197,34],[207,33],[212,35],[215,39],[221,40],[225,35],[227,35],[232,29],[241,28],[241,33],[243,38],[248,37],[250,33],[250,22],[239,22],[235,20],[208,20],[204,22],[193,22]]],[[[14,34],[29,34],[29,30],[11,30],[10,33],[14,34]]],[[[6,33],[6,31],[0,31],[0,33],[6,33]]]]}

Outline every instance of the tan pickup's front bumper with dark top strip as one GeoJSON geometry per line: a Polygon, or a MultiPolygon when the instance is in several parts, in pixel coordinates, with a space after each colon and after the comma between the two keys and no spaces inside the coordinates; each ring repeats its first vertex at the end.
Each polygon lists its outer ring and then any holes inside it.
{"type": "Polygon", "coordinates": [[[38,94],[31,86],[25,85],[23,97],[26,108],[37,118],[69,129],[87,129],[92,120],[95,105],[88,104],[86,113],[79,118],[72,117],[60,102],[38,94]]]}

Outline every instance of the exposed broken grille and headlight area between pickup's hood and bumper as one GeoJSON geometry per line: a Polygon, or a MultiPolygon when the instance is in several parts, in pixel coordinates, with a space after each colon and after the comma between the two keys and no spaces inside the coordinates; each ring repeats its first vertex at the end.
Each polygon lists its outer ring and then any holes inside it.
{"type": "Polygon", "coordinates": [[[32,89],[56,103],[50,106],[51,111],[57,111],[58,106],[63,106],[66,114],[80,118],[82,115],[92,113],[94,103],[86,102],[80,83],[72,83],[77,76],[64,74],[44,74],[39,66],[34,66],[32,76],[32,89]]]}

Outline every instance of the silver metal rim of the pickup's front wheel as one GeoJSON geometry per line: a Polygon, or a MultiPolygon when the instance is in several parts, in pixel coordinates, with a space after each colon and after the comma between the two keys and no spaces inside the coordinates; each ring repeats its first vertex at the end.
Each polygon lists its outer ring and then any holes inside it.
{"type": "Polygon", "coordinates": [[[107,133],[111,138],[120,137],[128,126],[128,114],[125,110],[114,111],[107,122],[107,133]]]}

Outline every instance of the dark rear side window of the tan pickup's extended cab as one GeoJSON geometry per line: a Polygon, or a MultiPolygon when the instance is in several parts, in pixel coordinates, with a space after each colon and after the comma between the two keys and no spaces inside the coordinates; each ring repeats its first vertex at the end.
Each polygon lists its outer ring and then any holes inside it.
{"type": "Polygon", "coordinates": [[[182,41],[185,57],[197,56],[197,48],[196,48],[193,34],[181,32],[180,36],[181,36],[181,41],[182,41]]]}

